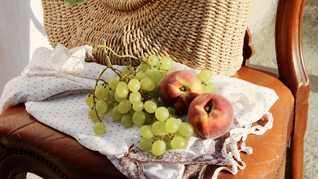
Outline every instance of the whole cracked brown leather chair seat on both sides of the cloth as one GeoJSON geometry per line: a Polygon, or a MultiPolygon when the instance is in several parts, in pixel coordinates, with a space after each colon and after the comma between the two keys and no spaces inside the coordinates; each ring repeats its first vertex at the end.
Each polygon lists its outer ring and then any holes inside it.
{"type": "MultiPolygon", "coordinates": [[[[246,145],[253,154],[241,153],[246,168],[237,175],[222,171],[218,178],[283,178],[287,140],[293,128],[294,98],[278,75],[242,66],[233,77],[272,88],[279,99],[269,110],[273,128],[263,135],[248,135],[246,145]],[[278,176],[278,177],[277,177],[278,176]]],[[[264,94],[266,95],[266,94],[264,94]]],[[[255,125],[264,125],[263,117],[255,125]]],[[[38,122],[25,111],[24,105],[0,116],[0,178],[32,172],[43,178],[126,178],[106,155],[81,146],[77,140],[38,122]]],[[[211,178],[215,168],[208,166],[204,178],[211,178]]]]}

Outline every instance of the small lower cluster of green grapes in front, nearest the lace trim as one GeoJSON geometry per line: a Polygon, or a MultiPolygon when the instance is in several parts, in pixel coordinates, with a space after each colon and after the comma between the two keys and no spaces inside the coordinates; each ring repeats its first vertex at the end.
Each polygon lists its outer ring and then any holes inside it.
{"type": "Polygon", "coordinates": [[[155,116],[158,119],[152,126],[144,125],[140,129],[142,139],[139,146],[144,151],[151,151],[154,155],[162,155],[170,149],[185,149],[187,140],[193,134],[193,126],[182,122],[174,115],[173,107],[163,106],[156,109],[155,116]]]}

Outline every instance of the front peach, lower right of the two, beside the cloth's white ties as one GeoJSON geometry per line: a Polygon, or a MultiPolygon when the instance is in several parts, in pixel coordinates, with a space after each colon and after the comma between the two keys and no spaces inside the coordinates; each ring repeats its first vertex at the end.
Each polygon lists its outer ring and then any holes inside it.
{"type": "Polygon", "coordinates": [[[204,93],[196,97],[188,111],[190,124],[205,139],[216,139],[230,129],[234,111],[229,100],[215,93],[204,93]],[[209,107],[210,111],[206,111],[209,107]]]}

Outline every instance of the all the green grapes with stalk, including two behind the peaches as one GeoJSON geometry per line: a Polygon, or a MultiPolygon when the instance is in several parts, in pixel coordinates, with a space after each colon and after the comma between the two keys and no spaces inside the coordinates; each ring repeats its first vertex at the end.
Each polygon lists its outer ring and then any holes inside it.
{"type": "MultiPolygon", "coordinates": [[[[92,94],[85,98],[87,106],[90,106],[88,117],[95,121],[99,120],[93,131],[96,135],[102,135],[106,131],[105,124],[100,117],[111,107],[111,117],[114,121],[120,121],[125,128],[133,125],[142,126],[140,133],[140,148],[150,151],[155,155],[162,155],[170,149],[185,149],[187,141],[184,137],[193,134],[193,126],[182,122],[175,115],[172,106],[165,107],[159,100],[158,85],[168,74],[176,71],[172,69],[173,60],[169,56],[159,59],[156,55],[150,55],[143,59],[132,55],[118,55],[111,48],[106,46],[106,41],[102,40],[102,45],[93,48],[103,48],[107,60],[107,67],[96,79],[95,88],[92,94]],[[125,66],[121,70],[114,68],[107,54],[107,50],[118,57],[130,57],[138,62],[137,67],[125,66]],[[117,77],[101,79],[106,69],[111,68],[117,77]],[[113,102],[109,106],[108,102],[113,102]]],[[[203,70],[199,73],[199,80],[202,81],[204,92],[212,91],[213,83],[210,80],[212,73],[210,70],[203,70]]]]}

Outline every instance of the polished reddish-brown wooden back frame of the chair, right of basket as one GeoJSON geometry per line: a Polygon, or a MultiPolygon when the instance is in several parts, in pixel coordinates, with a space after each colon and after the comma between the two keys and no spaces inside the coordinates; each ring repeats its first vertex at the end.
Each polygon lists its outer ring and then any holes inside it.
{"type": "MultiPolygon", "coordinates": [[[[275,46],[276,60],[280,81],[293,93],[294,127],[291,134],[291,145],[287,149],[287,165],[290,167],[285,178],[304,178],[304,137],[308,118],[308,100],[310,82],[305,67],[301,28],[305,0],[279,0],[276,24],[275,46]],[[289,154],[288,154],[289,153],[289,154]],[[292,175],[292,176],[290,176],[292,175]]],[[[249,59],[255,53],[251,44],[251,33],[247,28],[244,38],[242,65],[249,65],[249,59]]]]}

